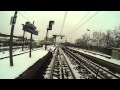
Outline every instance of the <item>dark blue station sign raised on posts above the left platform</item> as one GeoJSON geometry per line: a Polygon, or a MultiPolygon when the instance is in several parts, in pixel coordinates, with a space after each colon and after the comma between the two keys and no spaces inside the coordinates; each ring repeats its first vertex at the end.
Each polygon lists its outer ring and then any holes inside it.
{"type": "Polygon", "coordinates": [[[38,35],[38,31],[36,30],[36,27],[30,22],[26,22],[26,25],[23,25],[23,30],[32,33],[34,35],[38,35]]]}

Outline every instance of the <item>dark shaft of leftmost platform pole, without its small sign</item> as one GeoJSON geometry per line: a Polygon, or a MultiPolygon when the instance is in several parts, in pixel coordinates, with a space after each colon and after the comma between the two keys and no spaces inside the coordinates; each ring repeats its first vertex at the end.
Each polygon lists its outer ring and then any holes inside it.
{"type": "MultiPolygon", "coordinates": [[[[15,13],[14,13],[14,17],[15,16],[17,16],[17,11],[15,11],[15,13]]],[[[13,56],[12,56],[13,33],[14,33],[14,24],[12,24],[12,26],[11,26],[11,35],[10,35],[10,49],[9,49],[9,52],[10,52],[10,66],[13,66],[13,56]]]]}

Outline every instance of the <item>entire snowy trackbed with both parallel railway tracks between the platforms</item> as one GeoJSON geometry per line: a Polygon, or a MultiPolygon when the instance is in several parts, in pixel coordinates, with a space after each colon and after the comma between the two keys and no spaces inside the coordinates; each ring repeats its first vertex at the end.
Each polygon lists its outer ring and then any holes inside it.
{"type": "Polygon", "coordinates": [[[120,79],[109,69],[58,46],[43,74],[44,79],[120,79]]]}

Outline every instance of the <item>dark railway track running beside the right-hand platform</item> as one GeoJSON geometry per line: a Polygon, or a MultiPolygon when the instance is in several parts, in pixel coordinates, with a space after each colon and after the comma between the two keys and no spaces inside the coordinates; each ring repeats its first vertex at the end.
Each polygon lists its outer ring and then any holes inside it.
{"type": "Polygon", "coordinates": [[[78,53],[73,53],[73,51],[62,47],[64,52],[71,60],[74,60],[77,63],[78,67],[77,70],[80,74],[84,74],[85,78],[96,78],[96,79],[120,79],[120,76],[117,76],[115,73],[109,71],[109,69],[102,67],[91,60],[81,56],[78,53]],[[83,69],[83,70],[82,70],[83,69]],[[81,72],[84,71],[85,73],[81,72]]]}

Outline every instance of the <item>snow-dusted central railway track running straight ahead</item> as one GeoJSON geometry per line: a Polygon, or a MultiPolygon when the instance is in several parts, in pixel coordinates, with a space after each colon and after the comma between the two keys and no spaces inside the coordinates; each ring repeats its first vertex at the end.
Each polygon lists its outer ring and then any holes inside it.
{"type": "Polygon", "coordinates": [[[57,48],[51,63],[46,69],[44,79],[75,79],[61,48],[57,48]]]}

